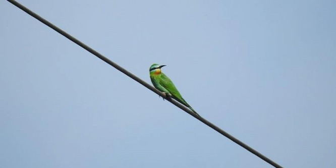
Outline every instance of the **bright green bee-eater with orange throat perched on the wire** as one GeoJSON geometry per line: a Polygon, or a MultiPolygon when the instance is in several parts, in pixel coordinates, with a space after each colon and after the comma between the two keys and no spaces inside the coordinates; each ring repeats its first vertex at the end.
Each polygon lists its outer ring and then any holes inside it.
{"type": "Polygon", "coordinates": [[[163,92],[166,96],[172,97],[181,104],[190,108],[197,116],[200,116],[196,111],[183,99],[180,92],[176,89],[174,83],[161,72],[161,68],[165,65],[153,64],[149,68],[149,76],[154,87],[163,92]]]}

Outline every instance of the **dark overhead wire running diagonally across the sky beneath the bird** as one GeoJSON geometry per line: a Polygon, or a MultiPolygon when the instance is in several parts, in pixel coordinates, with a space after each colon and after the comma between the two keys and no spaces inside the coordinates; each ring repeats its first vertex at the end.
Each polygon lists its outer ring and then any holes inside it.
{"type": "MultiPolygon", "coordinates": [[[[70,34],[68,34],[67,32],[63,31],[62,29],[58,28],[57,26],[53,25],[52,23],[48,22],[47,20],[43,19],[42,17],[40,17],[39,15],[35,14],[34,12],[30,11],[28,8],[26,8],[25,6],[21,5],[20,3],[13,1],[13,0],[7,0],[8,2],[12,3],[13,5],[15,5],[16,7],[20,8],[21,10],[23,10],[24,12],[26,12],[27,14],[29,14],[30,16],[34,17],[35,19],[39,20],[40,22],[42,22],[43,24],[47,25],[48,27],[50,27],[51,29],[59,32],[60,34],[62,34],[63,36],[67,37],[69,40],[73,41],[74,43],[78,44],[79,46],[83,47],[84,49],[86,49],[87,51],[91,52],[92,54],[94,54],[96,57],[98,57],[99,59],[101,59],[102,61],[104,61],[105,63],[109,64],[110,66],[115,67],[117,70],[119,70],[120,72],[124,73],[125,75],[129,76],[130,78],[134,79],[135,81],[139,82],[140,84],[142,84],[143,86],[145,86],[146,88],[148,88],[149,90],[155,92],[156,94],[158,94],[161,97],[165,97],[165,94],[163,94],[162,92],[160,92],[159,90],[157,90],[156,88],[154,88],[153,86],[149,85],[148,83],[146,83],[145,81],[141,80],[140,78],[138,78],[137,76],[133,75],[132,73],[130,73],[129,71],[127,71],[126,69],[124,69],[123,67],[120,67],[118,64],[114,63],[113,61],[108,60],[106,57],[104,57],[102,54],[100,54],[99,52],[97,52],[96,50],[92,49],[91,47],[87,46],[86,44],[82,43],[81,41],[79,41],[78,39],[76,39],[75,37],[71,36],[70,34]]],[[[258,151],[254,150],[253,148],[251,148],[250,146],[246,145],[245,143],[243,143],[242,141],[238,140],[237,138],[233,137],[232,135],[230,135],[229,133],[221,130],[219,127],[213,125],[212,123],[210,123],[209,121],[205,120],[204,118],[197,116],[195,113],[193,113],[193,111],[191,111],[189,108],[187,108],[186,106],[180,104],[178,101],[171,99],[170,97],[165,97],[166,100],[170,101],[171,103],[173,103],[174,105],[176,105],[177,107],[181,108],[182,110],[186,111],[189,115],[193,116],[194,118],[196,118],[197,120],[201,121],[202,123],[204,123],[205,125],[211,127],[212,129],[216,130],[218,133],[220,133],[223,136],[226,136],[227,138],[229,138],[230,140],[234,141],[235,143],[237,143],[238,145],[242,146],[243,148],[245,148],[246,150],[250,151],[251,153],[255,154],[256,156],[258,156],[259,158],[263,159],[264,161],[268,162],[269,164],[273,165],[274,167],[282,167],[281,165],[275,163],[274,161],[272,161],[271,159],[267,158],[266,156],[262,155],[261,153],[259,153],[258,151]]]]}

